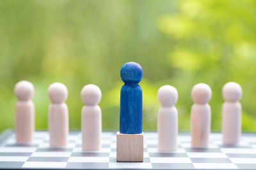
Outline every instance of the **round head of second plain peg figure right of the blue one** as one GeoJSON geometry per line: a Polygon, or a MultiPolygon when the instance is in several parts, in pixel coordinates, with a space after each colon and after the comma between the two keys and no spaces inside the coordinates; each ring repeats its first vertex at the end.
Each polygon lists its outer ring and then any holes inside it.
{"type": "Polygon", "coordinates": [[[196,104],[206,104],[211,100],[212,90],[205,83],[196,84],[191,92],[192,99],[196,104]]]}

